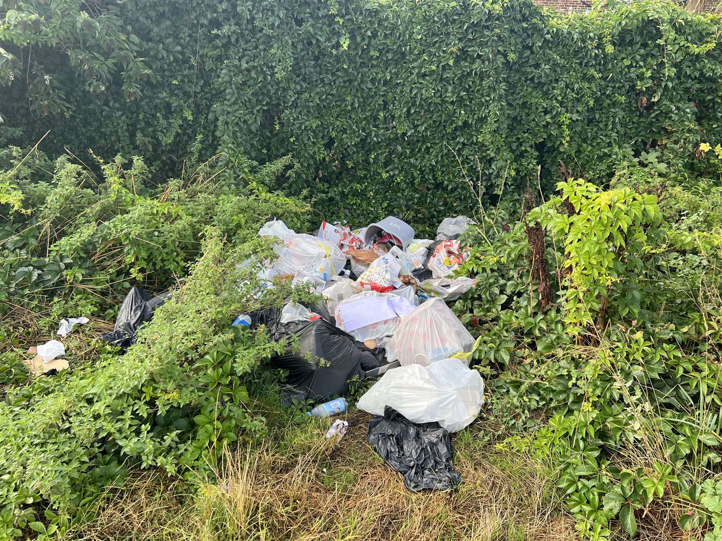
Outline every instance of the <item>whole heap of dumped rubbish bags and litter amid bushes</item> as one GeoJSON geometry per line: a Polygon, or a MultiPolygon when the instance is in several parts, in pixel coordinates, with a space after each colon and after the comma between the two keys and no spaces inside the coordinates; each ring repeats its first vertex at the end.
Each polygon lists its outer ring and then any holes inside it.
{"type": "MultiPolygon", "coordinates": [[[[355,377],[380,377],[357,407],[373,415],[369,444],[412,491],[461,482],[449,434],[474,421],[484,401],[482,377],[469,368],[474,338],[446,305],[476,284],[453,276],[469,258],[458,237],[470,224],[447,218],[432,240],[416,239],[393,216],[356,230],[324,221],[316,237],[269,221],[258,234],[279,240],[278,259],[259,269],[264,288],[275,277],[308,283],[323,303],[289,302],[234,322],[288,340],[271,359],[288,371],[286,403],[322,402],[344,395],[355,377]]],[[[346,402],[338,400],[310,414],[342,413],[346,402]]],[[[347,426],[337,421],[329,434],[341,437],[347,426]]]]}

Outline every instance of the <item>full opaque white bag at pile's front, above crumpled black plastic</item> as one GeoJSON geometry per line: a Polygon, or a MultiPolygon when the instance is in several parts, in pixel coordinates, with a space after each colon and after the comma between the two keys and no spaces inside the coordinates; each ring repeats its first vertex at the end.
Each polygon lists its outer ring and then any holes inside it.
{"type": "Polygon", "coordinates": [[[357,403],[372,415],[388,405],[412,423],[438,423],[457,432],[474,421],[484,403],[484,380],[458,359],[399,366],[383,374],[357,403]]]}

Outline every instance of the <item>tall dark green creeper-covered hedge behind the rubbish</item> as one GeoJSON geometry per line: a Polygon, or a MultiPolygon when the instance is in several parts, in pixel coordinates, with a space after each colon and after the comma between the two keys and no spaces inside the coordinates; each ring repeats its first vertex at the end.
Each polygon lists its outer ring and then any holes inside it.
{"type": "Polygon", "coordinates": [[[693,159],[722,136],[722,26],[671,2],[563,17],[531,0],[85,5],[10,2],[0,126],[166,170],[292,153],[301,174],[282,188],[360,224],[469,211],[459,162],[484,196],[536,185],[538,165],[541,182],[559,160],[604,182],[651,147],[693,159]]]}

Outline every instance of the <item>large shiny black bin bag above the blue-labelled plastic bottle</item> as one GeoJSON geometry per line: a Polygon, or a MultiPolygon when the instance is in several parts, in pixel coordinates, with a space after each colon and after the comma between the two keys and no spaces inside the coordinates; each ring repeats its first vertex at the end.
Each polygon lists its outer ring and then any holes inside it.
{"type": "MultiPolygon", "coordinates": [[[[309,306],[323,316],[325,309],[309,306]]],[[[251,315],[252,326],[266,325],[271,340],[290,340],[284,353],[271,357],[271,364],[289,372],[289,397],[323,400],[348,391],[348,380],[365,377],[365,371],[386,361],[383,348],[370,350],[329,321],[279,322],[281,309],[268,308],[251,315]]],[[[326,312],[327,315],[328,312],[326,312]]]]}

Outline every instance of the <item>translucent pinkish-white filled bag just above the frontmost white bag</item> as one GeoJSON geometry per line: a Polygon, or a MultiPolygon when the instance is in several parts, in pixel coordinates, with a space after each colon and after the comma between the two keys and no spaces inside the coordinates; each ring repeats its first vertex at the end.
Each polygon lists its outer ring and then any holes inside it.
{"type": "Polygon", "coordinates": [[[404,366],[429,366],[457,353],[470,353],[473,348],[474,338],[441,299],[423,303],[404,317],[393,333],[393,350],[404,366]]]}

